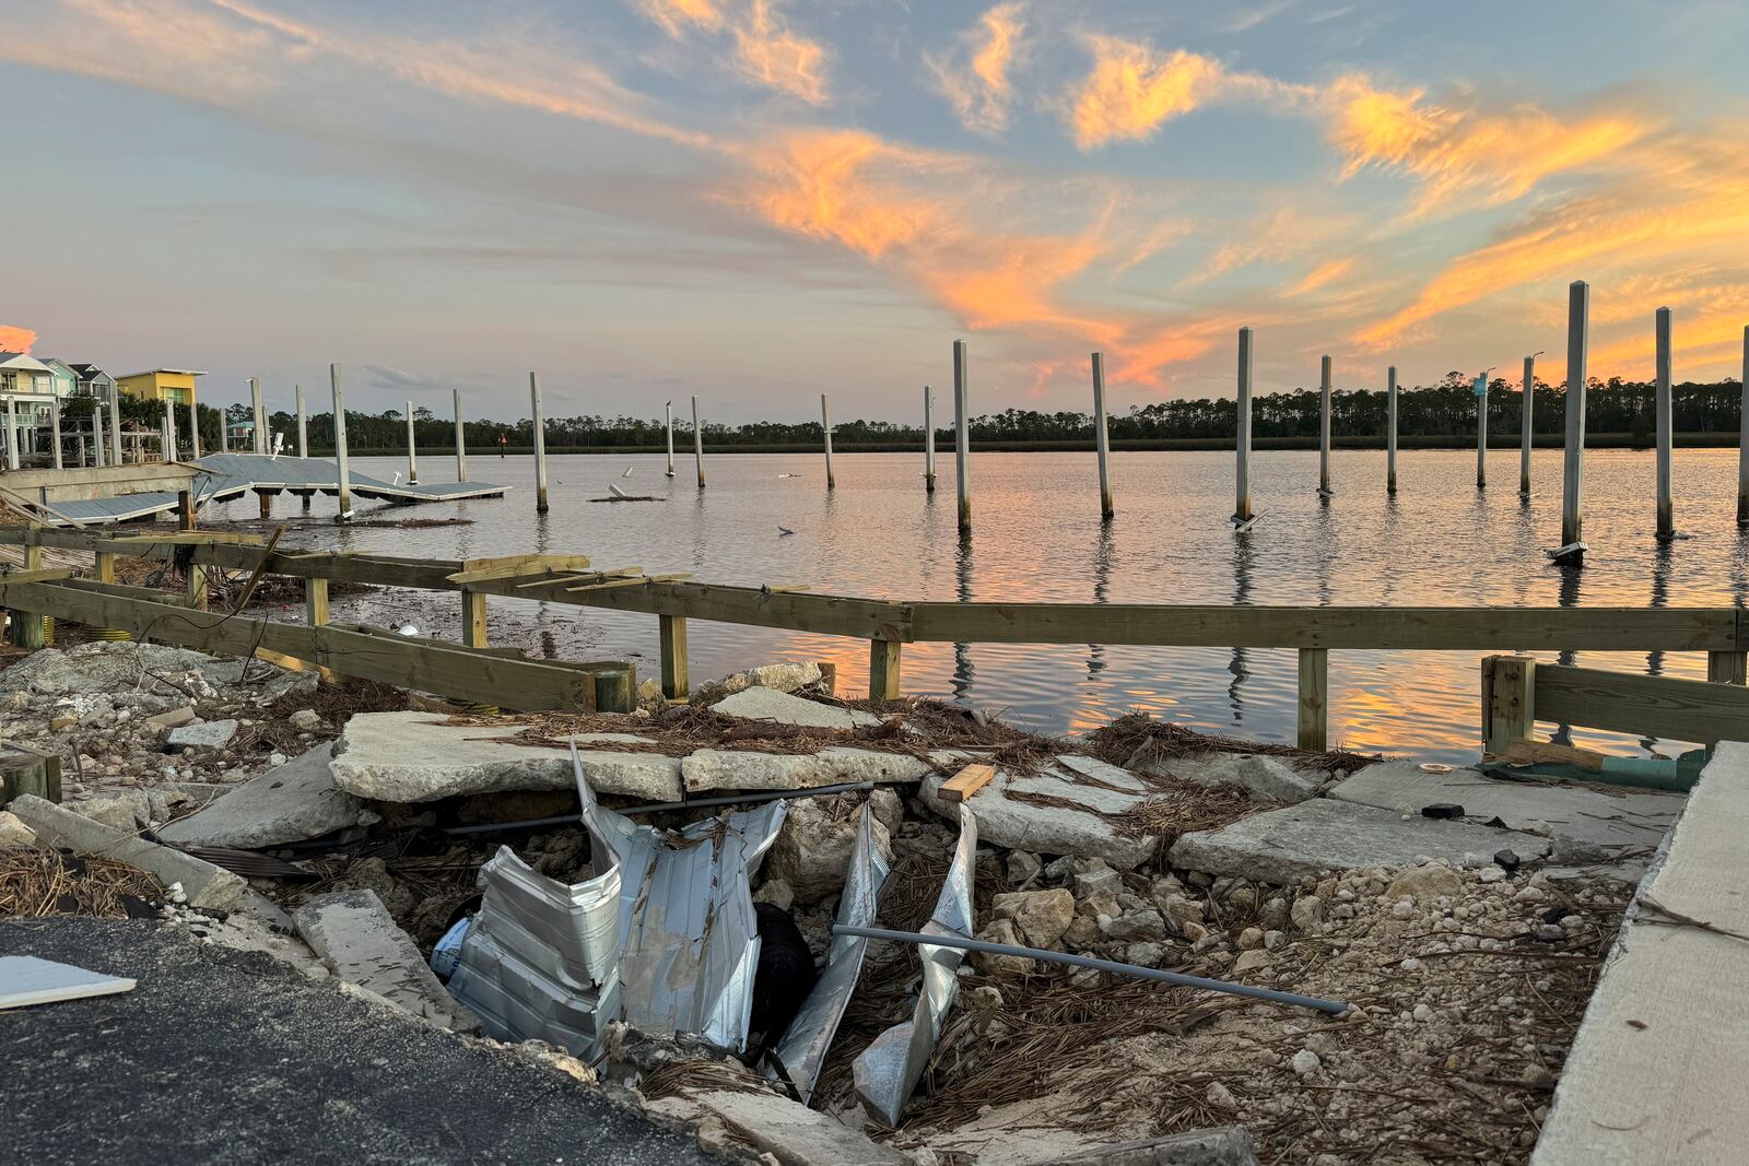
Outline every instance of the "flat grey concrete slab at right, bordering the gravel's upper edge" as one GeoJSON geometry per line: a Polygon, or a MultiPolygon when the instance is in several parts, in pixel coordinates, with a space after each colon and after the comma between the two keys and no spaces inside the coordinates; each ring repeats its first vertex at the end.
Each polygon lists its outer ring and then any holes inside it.
{"type": "Polygon", "coordinates": [[[1550,841],[1469,822],[1403,815],[1326,797],[1240,818],[1217,830],[1184,834],[1167,855],[1179,869],[1289,886],[1324,871],[1408,867],[1425,858],[1464,865],[1480,855],[1515,851],[1523,862],[1546,858],[1550,841]]]}

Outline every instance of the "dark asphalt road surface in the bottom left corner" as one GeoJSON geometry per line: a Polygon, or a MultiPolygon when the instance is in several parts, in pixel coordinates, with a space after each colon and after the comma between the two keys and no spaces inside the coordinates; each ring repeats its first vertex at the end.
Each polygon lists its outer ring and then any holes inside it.
{"type": "Polygon", "coordinates": [[[182,928],[3,921],[0,954],[138,981],[0,1012],[0,1161],[722,1163],[556,1070],[182,928]]]}

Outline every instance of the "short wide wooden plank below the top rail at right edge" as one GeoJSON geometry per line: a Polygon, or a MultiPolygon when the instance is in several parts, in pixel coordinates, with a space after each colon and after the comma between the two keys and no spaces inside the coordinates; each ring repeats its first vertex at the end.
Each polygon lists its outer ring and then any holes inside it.
{"type": "Polygon", "coordinates": [[[1537,664],[1536,717],[1702,745],[1744,741],[1749,739],[1749,689],[1709,680],[1537,664]]]}

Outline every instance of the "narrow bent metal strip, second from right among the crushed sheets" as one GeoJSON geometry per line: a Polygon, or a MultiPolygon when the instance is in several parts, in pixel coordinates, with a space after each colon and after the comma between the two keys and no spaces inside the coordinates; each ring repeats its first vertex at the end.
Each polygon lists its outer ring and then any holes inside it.
{"type": "MultiPolygon", "coordinates": [[[[855,850],[850,853],[850,871],[845,874],[845,893],[838,900],[840,925],[874,925],[880,888],[887,881],[887,860],[874,846],[874,813],[864,802],[857,822],[855,850]]],[[[868,946],[869,940],[861,935],[833,935],[826,970],[813,991],[808,993],[801,1010],[796,1012],[796,1019],[791,1021],[777,1049],[771,1051],[778,1072],[794,1086],[803,1105],[813,1096],[826,1054],[833,1047],[833,1037],[838,1035],[838,1023],[845,1016],[852,993],[855,993],[868,946]]]]}

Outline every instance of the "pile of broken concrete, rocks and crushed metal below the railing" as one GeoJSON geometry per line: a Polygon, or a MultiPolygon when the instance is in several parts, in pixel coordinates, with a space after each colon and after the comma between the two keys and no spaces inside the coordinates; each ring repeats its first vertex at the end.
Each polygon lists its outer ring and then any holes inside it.
{"type": "MultiPolygon", "coordinates": [[[[311,977],[458,1031],[565,1045],[701,1140],[784,1163],[1116,1163],[1102,1147],[1181,1135],[1205,1156],[1160,1143],[1146,1161],[1523,1161],[1620,911],[1681,808],[1674,794],[1207,748],[1135,718],[1046,739],[939,704],[838,701],[812,666],[637,717],[341,724],[306,708],[285,722],[308,745],[292,757],[164,753],[149,717],[187,706],[243,729],[313,699],[306,677],[238,670],[135,645],[38,652],[0,675],[0,701],[9,732],[115,741],[80,762],[70,809],[241,871],[226,872],[236,886],[178,879],[189,906],[168,911],[212,942],[268,944],[241,920],[187,914],[217,886],[311,977]],[[75,677],[87,670],[105,678],[75,677]],[[960,797],[967,764],[995,776],[960,797]],[[185,795],[191,783],[220,795],[185,795]],[[145,813],[93,813],[117,788],[143,794],[145,813]],[[682,904],[705,885],[708,913],[682,904]],[[941,965],[941,946],[923,960],[908,942],[852,951],[833,930],[955,933],[955,895],[964,935],[1011,951],[941,965]],[[682,906],[703,914],[682,920],[682,906]],[[621,963],[591,927],[617,935],[621,963]],[[777,982],[768,956],[791,933],[805,947],[777,982]],[[1334,1016],[1018,949],[1312,996],[1334,1016]],[[736,951],[759,958],[757,977],[736,951]],[[798,1080],[784,1026],[796,1007],[813,1024],[834,975],[850,989],[824,1002],[798,1080]],[[771,1003],[761,993],[789,1000],[770,1031],[749,1023],[771,1003]],[[894,1031],[920,1061],[897,1121],[880,1121],[871,1049],[894,1031]]],[[[0,813],[0,846],[7,829],[66,844],[56,815],[73,815],[31,801],[0,813]]]]}

